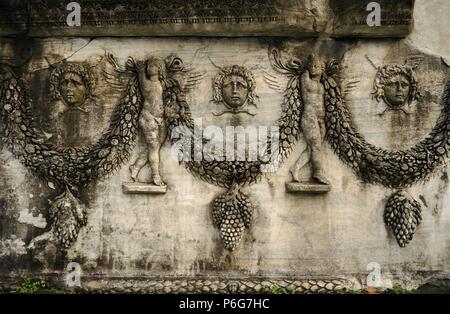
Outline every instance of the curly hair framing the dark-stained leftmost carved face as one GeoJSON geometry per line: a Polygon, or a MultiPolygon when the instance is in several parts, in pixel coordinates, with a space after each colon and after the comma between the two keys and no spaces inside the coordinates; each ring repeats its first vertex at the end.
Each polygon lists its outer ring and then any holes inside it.
{"type": "Polygon", "coordinates": [[[66,73],[75,73],[81,77],[83,84],[86,87],[86,94],[88,97],[93,97],[94,77],[89,68],[84,64],[62,62],[55,66],[50,74],[50,94],[53,99],[61,98],[59,92],[59,83],[62,76],[66,73]]]}

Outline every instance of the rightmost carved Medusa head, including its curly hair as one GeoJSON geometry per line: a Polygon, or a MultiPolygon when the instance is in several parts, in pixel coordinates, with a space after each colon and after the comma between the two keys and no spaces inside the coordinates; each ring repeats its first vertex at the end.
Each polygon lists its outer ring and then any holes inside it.
{"type": "Polygon", "coordinates": [[[372,95],[383,100],[390,110],[403,110],[413,101],[421,101],[419,84],[409,65],[385,65],[378,68],[372,95]]]}

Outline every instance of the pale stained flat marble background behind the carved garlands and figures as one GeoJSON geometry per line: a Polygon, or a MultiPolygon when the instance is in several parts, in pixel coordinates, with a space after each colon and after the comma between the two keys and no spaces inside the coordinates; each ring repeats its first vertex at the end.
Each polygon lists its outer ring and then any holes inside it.
{"type": "MultiPolygon", "coordinates": [[[[437,8],[445,4],[433,2],[437,8]]],[[[419,16],[418,25],[429,18],[419,16]]],[[[431,42],[424,39],[426,31],[446,41],[445,15],[436,19],[442,23],[438,34],[434,28],[425,27],[400,41],[142,37],[48,38],[20,43],[0,39],[0,55],[3,61],[17,65],[17,73],[28,81],[36,123],[44,129],[60,123],[52,120],[51,115],[56,107],[50,97],[49,63],[57,64],[67,58],[68,62],[86,62],[92,66],[96,102],[90,105],[96,106],[96,119],[86,121],[83,130],[90,135],[84,139],[86,143],[92,143],[107,129],[122,95],[102,75],[107,66],[102,60],[105,51],[114,53],[121,64],[128,56],[145,60],[153,55],[164,58],[176,53],[185,64],[202,74],[199,84],[187,94],[193,116],[201,117],[205,126],[220,128],[230,124],[271,126],[281,115],[283,92],[270,88],[265,77],[267,74],[276,77],[281,86],[286,84],[286,79],[274,71],[268,57],[269,47],[278,47],[286,58],[304,59],[316,52],[327,60],[340,60],[343,77],[358,82],[345,96],[345,101],[360,134],[377,147],[398,150],[408,149],[424,139],[442,110],[442,94],[449,71],[440,55],[450,55],[450,51],[448,45],[439,46],[436,54],[422,50],[434,47],[432,39],[431,42]],[[408,113],[386,111],[380,115],[386,104],[372,95],[376,68],[392,63],[405,64],[408,58],[417,55],[421,60],[415,74],[423,100],[408,105],[408,113]],[[234,64],[245,66],[253,73],[259,95],[255,116],[212,114],[221,109],[211,101],[212,82],[219,72],[217,66],[234,64]]],[[[73,130],[73,125],[63,123],[60,126],[67,131],[63,132],[67,137],[73,136],[68,132],[73,130]]],[[[52,132],[56,131],[50,128],[47,133],[52,132]]],[[[71,140],[76,141],[76,138],[71,140]]],[[[64,140],[62,142],[64,144],[64,140]]],[[[0,275],[56,272],[60,276],[58,280],[63,282],[65,266],[75,261],[81,264],[86,275],[106,278],[96,284],[96,279],[90,277],[86,290],[107,287],[111,277],[168,277],[176,281],[177,276],[219,276],[231,278],[230,281],[243,277],[344,278],[348,281],[335,285],[360,287],[365,284],[367,265],[376,262],[381,266],[386,286],[400,283],[414,287],[428,276],[448,278],[450,200],[446,168],[437,171],[425,184],[415,184],[408,189],[420,202],[423,219],[414,239],[400,248],[383,217],[385,204],[393,191],[381,185],[362,183],[328,144],[324,148],[325,168],[332,189],[319,195],[286,193],[285,184],[291,180],[289,169],[304,146],[300,139],[276,174],[245,189],[256,203],[256,209],[251,227],[231,253],[224,250],[211,219],[211,202],[223,189],[195,178],[181,167],[169,143],[165,143],[161,151],[167,192],[160,195],[123,193],[122,184],[130,180],[128,166],[144,147],[139,142],[129,162],[82,195],[81,200],[89,205],[87,225],[80,229],[66,255],[51,245],[43,251],[27,250],[32,239],[48,230],[49,202],[54,201],[58,193],[53,184],[36,178],[3,147],[0,153],[0,275]]],[[[306,169],[302,175],[309,177],[308,171],[306,169]]],[[[144,171],[141,177],[148,175],[144,171]]],[[[282,284],[294,287],[306,284],[320,290],[328,283],[311,284],[300,279],[295,284],[282,284]]],[[[194,287],[197,282],[194,284],[187,279],[186,282],[187,286],[192,286],[192,291],[201,289],[194,287]]],[[[122,284],[113,283],[113,286],[121,291],[122,284]]],[[[146,291],[166,292],[163,282],[151,281],[150,284],[155,286],[154,290],[146,291]]],[[[218,291],[225,292],[229,284],[229,281],[213,280],[213,283],[202,281],[199,286],[209,289],[217,286],[218,291]]],[[[260,282],[248,280],[239,284],[242,291],[253,291],[260,282]]],[[[135,286],[136,291],[144,291],[139,290],[142,283],[137,282],[135,286]]],[[[179,287],[178,283],[167,284],[168,292],[172,292],[173,287],[179,287]]],[[[302,289],[308,291],[309,288],[302,289]]]]}

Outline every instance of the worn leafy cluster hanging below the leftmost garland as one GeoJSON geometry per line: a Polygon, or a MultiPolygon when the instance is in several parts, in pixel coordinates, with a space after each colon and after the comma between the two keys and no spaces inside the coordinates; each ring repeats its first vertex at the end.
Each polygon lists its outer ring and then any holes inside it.
{"type": "Polygon", "coordinates": [[[59,195],[49,209],[52,231],[61,245],[68,249],[87,223],[86,208],[69,189],[59,195]]]}

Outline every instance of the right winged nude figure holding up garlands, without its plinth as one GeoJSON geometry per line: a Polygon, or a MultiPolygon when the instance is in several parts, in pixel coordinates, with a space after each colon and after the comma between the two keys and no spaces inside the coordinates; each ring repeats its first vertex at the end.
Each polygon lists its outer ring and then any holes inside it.
{"type": "MultiPolygon", "coordinates": [[[[323,78],[336,72],[336,62],[330,60],[326,63],[317,55],[310,54],[306,60],[292,59],[284,63],[276,49],[272,50],[270,57],[274,69],[284,75],[275,77],[266,73],[264,79],[268,85],[284,92],[285,106],[290,106],[290,95],[293,93],[300,95],[299,129],[306,145],[301,148],[300,157],[290,170],[293,181],[300,182],[300,171],[309,164],[311,167],[309,182],[329,185],[322,160],[322,146],[326,135],[323,78]],[[282,86],[286,88],[283,90],[282,86]]],[[[346,82],[344,94],[351,91],[358,82],[356,80],[346,82]]]]}

